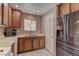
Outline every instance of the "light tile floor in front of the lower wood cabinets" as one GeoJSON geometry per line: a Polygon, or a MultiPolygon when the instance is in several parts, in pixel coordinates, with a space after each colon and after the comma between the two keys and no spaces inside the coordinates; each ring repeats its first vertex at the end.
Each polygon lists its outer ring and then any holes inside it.
{"type": "Polygon", "coordinates": [[[35,50],[18,54],[18,56],[52,56],[46,49],[35,50]]]}

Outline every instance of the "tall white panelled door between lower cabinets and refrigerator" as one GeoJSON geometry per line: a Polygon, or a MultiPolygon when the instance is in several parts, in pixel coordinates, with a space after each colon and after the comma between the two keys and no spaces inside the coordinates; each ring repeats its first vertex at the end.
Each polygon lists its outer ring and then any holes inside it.
{"type": "Polygon", "coordinates": [[[45,17],[45,48],[53,53],[53,14],[45,17]]]}

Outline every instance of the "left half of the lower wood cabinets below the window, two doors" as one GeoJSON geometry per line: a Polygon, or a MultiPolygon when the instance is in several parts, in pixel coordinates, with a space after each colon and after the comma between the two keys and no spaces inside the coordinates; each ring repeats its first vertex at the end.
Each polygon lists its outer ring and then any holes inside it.
{"type": "Polygon", "coordinates": [[[18,38],[18,53],[32,50],[32,40],[30,37],[18,38]]]}

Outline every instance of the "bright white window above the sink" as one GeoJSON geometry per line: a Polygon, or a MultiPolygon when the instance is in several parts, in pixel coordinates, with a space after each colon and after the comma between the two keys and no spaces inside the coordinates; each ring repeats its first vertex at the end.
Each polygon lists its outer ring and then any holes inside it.
{"type": "Polygon", "coordinates": [[[24,30],[36,31],[36,21],[24,19],[24,30]]]}

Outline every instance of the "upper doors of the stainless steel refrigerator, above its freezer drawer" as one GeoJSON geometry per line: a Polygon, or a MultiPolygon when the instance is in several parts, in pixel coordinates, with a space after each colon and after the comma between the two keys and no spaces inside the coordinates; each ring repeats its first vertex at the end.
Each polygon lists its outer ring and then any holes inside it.
{"type": "Polygon", "coordinates": [[[71,12],[57,18],[62,26],[62,42],[79,45],[79,11],[71,12]]]}

